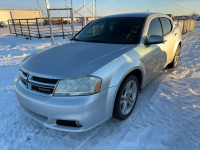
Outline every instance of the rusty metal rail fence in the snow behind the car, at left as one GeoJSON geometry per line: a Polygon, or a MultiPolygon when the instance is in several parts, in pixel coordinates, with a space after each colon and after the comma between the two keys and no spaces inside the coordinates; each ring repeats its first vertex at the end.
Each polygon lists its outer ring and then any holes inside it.
{"type": "MultiPolygon", "coordinates": [[[[52,18],[52,30],[53,35],[65,36],[72,35],[71,24],[68,18],[56,17],[52,18]]],[[[29,36],[34,38],[50,37],[49,22],[47,18],[35,18],[35,19],[12,19],[8,20],[8,26],[11,34],[16,36],[29,36]],[[41,26],[42,24],[42,26],[41,26]]],[[[83,20],[76,23],[75,32],[80,31],[83,28],[83,20]]]]}

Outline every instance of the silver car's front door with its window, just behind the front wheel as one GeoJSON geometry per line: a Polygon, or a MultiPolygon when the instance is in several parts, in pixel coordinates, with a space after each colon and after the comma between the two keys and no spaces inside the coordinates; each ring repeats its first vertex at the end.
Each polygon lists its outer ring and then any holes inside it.
{"type": "MultiPolygon", "coordinates": [[[[163,36],[163,29],[159,18],[154,18],[150,21],[146,35],[147,40],[151,35],[163,36]]],[[[165,67],[167,61],[166,51],[167,47],[164,43],[146,45],[146,81],[151,80],[165,67]]]]}

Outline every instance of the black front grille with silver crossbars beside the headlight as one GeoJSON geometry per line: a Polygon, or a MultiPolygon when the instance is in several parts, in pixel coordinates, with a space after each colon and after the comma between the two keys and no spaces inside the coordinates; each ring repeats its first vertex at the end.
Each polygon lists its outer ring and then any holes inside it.
{"type": "Polygon", "coordinates": [[[23,71],[20,71],[20,76],[19,83],[24,89],[43,96],[51,96],[58,82],[57,79],[32,76],[23,71]]]}

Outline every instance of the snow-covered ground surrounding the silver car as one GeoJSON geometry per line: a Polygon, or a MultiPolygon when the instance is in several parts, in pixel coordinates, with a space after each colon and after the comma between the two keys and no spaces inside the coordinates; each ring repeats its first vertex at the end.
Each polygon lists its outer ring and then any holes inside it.
{"type": "MultiPolygon", "coordinates": [[[[55,39],[62,42],[62,37],[55,39]]],[[[111,118],[83,133],[44,127],[18,106],[13,81],[20,61],[50,46],[0,29],[0,149],[200,149],[200,22],[183,35],[176,69],[163,70],[139,95],[125,121],[111,118]]]]}

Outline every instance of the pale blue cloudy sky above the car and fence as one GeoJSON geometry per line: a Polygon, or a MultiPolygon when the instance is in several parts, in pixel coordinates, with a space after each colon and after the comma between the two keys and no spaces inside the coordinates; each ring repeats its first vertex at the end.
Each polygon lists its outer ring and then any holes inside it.
{"type": "MultiPolygon", "coordinates": [[[[89,5],[92,0],[85,0],[89,5]]],[[[65,0],[49,0],[53,8],[62,8],[65,0]]],[[[71,0],[67,0],[70,4],[71,0]]],[[[45,9],[45,0],[39,0],[39,4],[45,9]]],[[[83,0],[73,0],[74,10],[83,5],[83,0]]],[[[0,9],[38,9],[37,0],[0,0],[0,9]]],[[[200,14],[200,0],[97,0],[97,15],[105,16],[129,12],[159,12],[165,14],[188,15],[193,12],[200,14]]],[[[91,10],[91,7],[90,7],[91,10]]],[[[54,12],[55,13],[55,12],[54,12]]],[[[58,15],[64,17],[65,12],[58,15]]],[[[89,11],[87,15],[91,16],[89,11]]]]}

